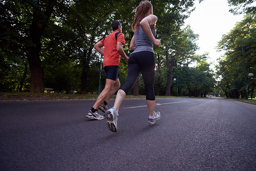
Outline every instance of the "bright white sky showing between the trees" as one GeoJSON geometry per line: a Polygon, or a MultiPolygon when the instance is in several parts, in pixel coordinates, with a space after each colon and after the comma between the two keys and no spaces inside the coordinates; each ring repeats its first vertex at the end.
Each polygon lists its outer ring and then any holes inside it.
{"type": "Polygon", "coordinates": [[[206,56],[208,63],[217,64],[217,59],[224,55],[224,51],[218,52],[216,46],[222,35],[227,34],[235,26],[235,23],[242,21],[243,15],[234,15],[229,12],[230,7],[226,0],[204,0],[196,2],[196,9],[190,17],[185,20],[185,26],[190,25],[194,34],[199,35],[197,44],[200,50],[198,55],[209,52],[206,56]]]}

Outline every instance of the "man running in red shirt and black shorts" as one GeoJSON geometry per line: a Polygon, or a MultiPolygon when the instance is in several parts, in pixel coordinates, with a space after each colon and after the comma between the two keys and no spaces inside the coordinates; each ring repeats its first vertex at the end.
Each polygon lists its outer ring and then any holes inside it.
{"type": "Polygon", "coordinates": [[[106,38],[97,42],[94,48],[100,52],[103,58],[103,68],[106,72],[105,88],[97,97],[94,106],[87,112],[86,117],[94,120],[102,120],[105,116],[97,113],[100,109],[102,112],[108,110],[108,100],[114,95],[114,93],[120,88],[120,81],[117,78],[119,70],[120,55],[128,61],[127,55],[124,53],[123,45],[124,34],[122,33],[121,23],[117,20],[112,22],[113,32],[106,38]],[[104,46],[104,51],[101,47],[104,46]]]}

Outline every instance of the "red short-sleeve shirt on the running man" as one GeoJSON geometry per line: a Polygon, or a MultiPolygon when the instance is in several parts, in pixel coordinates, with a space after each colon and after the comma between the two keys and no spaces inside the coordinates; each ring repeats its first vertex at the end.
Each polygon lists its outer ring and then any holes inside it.
{"type": "Polygon", "coordinates": [[[103,58],[103,67],[105,66],[119,66],[120,54],[116,50],[117,42],[125,44],[124,34],[120,33],[115,38],[117,31],[113,31],[105,39],[101,39],[100,42],[104,45],[104,58],[103,58]]]}

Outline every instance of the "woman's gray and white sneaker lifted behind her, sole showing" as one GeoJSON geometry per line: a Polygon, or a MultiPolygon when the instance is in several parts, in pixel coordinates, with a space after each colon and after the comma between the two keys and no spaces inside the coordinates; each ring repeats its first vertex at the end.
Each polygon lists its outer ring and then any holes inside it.
{"type": "Polygon", "coordinates": [[[108,119],[107,125],[110,131],[117,132],[117,117],[116,108],[110,108],[105,112],[105,117],[108,119]]]}

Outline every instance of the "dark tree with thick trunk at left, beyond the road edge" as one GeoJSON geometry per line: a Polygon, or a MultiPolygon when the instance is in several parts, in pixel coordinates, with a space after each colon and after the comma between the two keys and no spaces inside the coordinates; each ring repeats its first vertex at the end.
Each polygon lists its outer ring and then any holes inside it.
{"type": "MultiPolygon", "coordinates": [[[[15,42],[21,50],[25,52],[29,62],[31,83],[30,92],[43,92],[43,66],[42,56],[42,38],[47,37],[47,28],[53,24],[50,22],[54,7],[62,9],[68,3],[63,1],[3,1],[1,7],[3,10],[3,18],[6,37],[11,38],[11,34],[15,35],[15,42]],[[7,29],[6,29],[7,28],[7,29]]],[[[2,43],[2,42],[1,42],[2,43]]],[[[11,43],[10,41],[7,43],[11,43]]]]}

